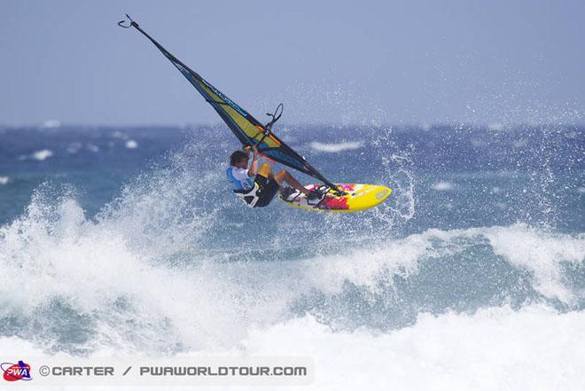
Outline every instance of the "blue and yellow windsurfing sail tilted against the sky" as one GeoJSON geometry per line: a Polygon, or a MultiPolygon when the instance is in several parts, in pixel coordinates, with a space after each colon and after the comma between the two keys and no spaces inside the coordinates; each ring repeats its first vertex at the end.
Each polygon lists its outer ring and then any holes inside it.
{"type": "Polygon", "coordinates": [[[308,161],[302,158],[299,153],[294,152],[291,147],[285,145],[284,142],[271,132],[266,132],[264,125],[253,118],[250,113],[247,113],[246,110],[238,106],[233,100],[223,94],[222,91],[217,90],[211,83],[191,70],[189,66],[184,65],[181,60],[177,59],[162,47],[160,43],[156,42],[152,36],[144,32],[135,21],[130,21],[130,27],[135,27],[154,43],[162,54],[199,91],[207,103],[214,107],[215,111],[222,117],[222,120],[228,125],[234,135],[238,137],[240,143],[243,145],[256,145],[256,148],[262,155],[276,160],[285,166],[297,169],[309,176],[314,176],[324,184],[329,185],[333,190],[337,190],[337,186],[331,184],[321,173],[308,164],[308,161]]]}

